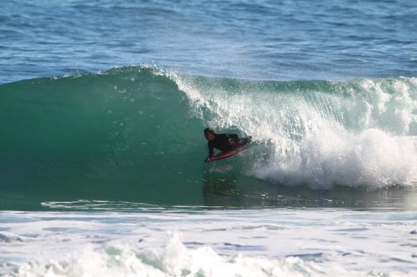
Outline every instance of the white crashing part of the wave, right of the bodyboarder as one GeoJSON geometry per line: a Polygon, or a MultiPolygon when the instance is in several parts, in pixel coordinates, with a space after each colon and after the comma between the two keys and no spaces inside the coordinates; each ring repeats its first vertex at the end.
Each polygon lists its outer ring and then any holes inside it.
{"type": "Polygon", "coordinates": [[[252,159],[258,178],[313,188],[417,180],[417,78],[177,83],[193,115],[269,146],[252,159]]]}

